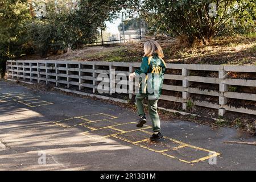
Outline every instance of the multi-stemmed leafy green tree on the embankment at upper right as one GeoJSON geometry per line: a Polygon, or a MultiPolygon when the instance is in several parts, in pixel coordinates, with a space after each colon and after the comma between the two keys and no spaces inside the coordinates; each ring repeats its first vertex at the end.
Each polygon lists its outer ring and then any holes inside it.
{"type": "Polygon", "coordinates": [[[150,0],[143,9],[152,32],[185,35],[190,43],[199,39],[205,44],[217,34],[253,26],[255,6],[253,0],[150,0]],[[216,16],[209,14],[210,3],[216,4],[216,16]]]}

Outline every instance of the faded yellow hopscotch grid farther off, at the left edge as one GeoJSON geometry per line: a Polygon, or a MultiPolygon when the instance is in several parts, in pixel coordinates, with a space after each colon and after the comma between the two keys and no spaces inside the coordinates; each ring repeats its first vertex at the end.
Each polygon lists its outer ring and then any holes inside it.
{"type": "Polygon", "coordinates": [[[9,98],[13,101],[16,101],[16,102],[19,102],[21,104],[27,105],[29,107],[38,107],[38,106],[53,104],[52,102],[47,102],[47,101],[40,100],[39,97],[40,96],[33,96],[30,93],[9,92],[9,93],[3,93],[2,96],[0,96],[0,101],[3,101],[3,99],[8,99],[9,98]]]}

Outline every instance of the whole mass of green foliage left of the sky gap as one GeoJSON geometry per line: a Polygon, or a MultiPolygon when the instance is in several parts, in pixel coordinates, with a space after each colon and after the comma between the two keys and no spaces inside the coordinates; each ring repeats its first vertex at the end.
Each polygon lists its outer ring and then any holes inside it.
{"type": "Polygon", "coordinates": [[[115,18],[126,1],[49,0],[45,9],[37,11],[42,2],[0,2],[0,51],[5,55],[15,58],[39,52],[45,57],[49,51],[93,43],[98,29],[105,27],[106,20],[115,18]]]}

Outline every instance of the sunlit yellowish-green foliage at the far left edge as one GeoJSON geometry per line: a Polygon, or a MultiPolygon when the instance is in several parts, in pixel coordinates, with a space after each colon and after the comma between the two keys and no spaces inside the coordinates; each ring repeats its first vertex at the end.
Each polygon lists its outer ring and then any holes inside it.
{"type": "Polygon", "coordinates": [[[24,41],[30,12],[26,0],[2,0],[0,2],[0,53],[18,57],[29,50],[24,41]]]}

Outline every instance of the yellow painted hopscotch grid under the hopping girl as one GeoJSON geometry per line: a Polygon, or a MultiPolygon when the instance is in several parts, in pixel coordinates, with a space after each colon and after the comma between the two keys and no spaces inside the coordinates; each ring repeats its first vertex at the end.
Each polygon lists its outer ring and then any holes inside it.
{"type": "MultiPolygon", "coordinates": [[[[204,160],[213,158],[215,156],[221,155],[218,152],[210,151],[210,150],[207,150],[205,148],[200,148],[200,147],[192,146],[190,144],[183,143],[183,142],[180,142],[179,140],[172,139],[172,138],[169,138],[169,137],[163,137],[163,138],[167,139],[167,140],[170,140],[173,143],[179,144],[179,146],[178,147],[168,148],[168,149],[165,149],[165,150],[155,150],[154,148],[150,148],[148,146],[145,146],[145,145],[141,144],[142,142],[149,141],[148,139],[142,139],[142,140],[138,140],[138,141],[133,142],[133,141],[127,139],[127,138],[123,138],[123,137],[120,136],[121,134],[131,133],[131,132],[134,132],[134,131],[142,131],[143,133],[151,134],[149,131],[146,131],[146,129],[150,129],[151,126],[144,125],[146,127],[142,128],[142,129],[135,129],[135,130],[129,130],[129,131],[124,131],[124,130],[115,128],[117,126],[122,126],[122,125],[137,124],[136,122],[127,122],[127,123],[116,123],[116,122],[114,122],[115,125],[105,126],[105,127],[100,127],[100,128],[94,128],[92,126],[88,126],[88,123],[99,122],[99,121],[109,121],[109,119],[117,118],[117,117],[115,117],[113,115],[109,115],[109,114],[105,114],[105,113],[97,113],[97,114],[91,114],[91,115],[84,115],[84,116],[80,116],[80,117],[68,118],[68,119],[64,119],[64,120],[53,122],[53,123],[55,123],[56,125],[59,125],[61,127],[72,127],[72,126],[61,125],[61,123],[59,123],[59,122],[68,121],[68,120],[76,119],[76,118],[80,118],[80,119],[83,119],[84,121],[86,121],[84,123],[79,123],[77,125],[87,127],[91,131],[103,130],[103,129],[112,129],[112,130],[118,131],[117,134],[110,134],[110,135],[103,136],[101,138],[108,138],[108,137],[117,138],[117,139],[123,140],[123,141],[125,141],[127,143],[134,144],[135,146],[139,146],[139,147],[145,148],[147,150],[154,151],[156,153],[162,154],[164,156],[167,156],[168,158],[177,159],[180,162],[184,162],[184,163],[197,163],[197,162],[204,161],[204,160]],[[108,116],[110,118],[108,118],[108,119],[98,119],[96,121],[91,121],[90,119],[85,118],[85,117],[90,117],[90,116],[94,116],[94,115],[105,115],[105,116],[108,116]],[[193,148],[195,150],[204,151],[204,152],[212,152],[212,155],[208,155],[208,156],[204,156],[203,158],[200,158],[200,159],[195,159],[195,160],[188,161],[188,160],[179,159],[176,156],[172,156],[172,155],[169,155],[169,154],[166,153],[167,151],[172,151],[172,150],[176,151],[176,150],[182,149],[184,147],[193,148]]],[[[73,126],[77,126],[77,125],[73,125],[73,126]]],[[[85,135],[86,137],[94,138],[94,139],[99,139],[99,138],[96,138],[96,137],[92,137],[92,136],[90,136],[88,134],[90,134],[90,131],[86,131],[86,132],[82,133],[82,135],[85,135]]]]}

